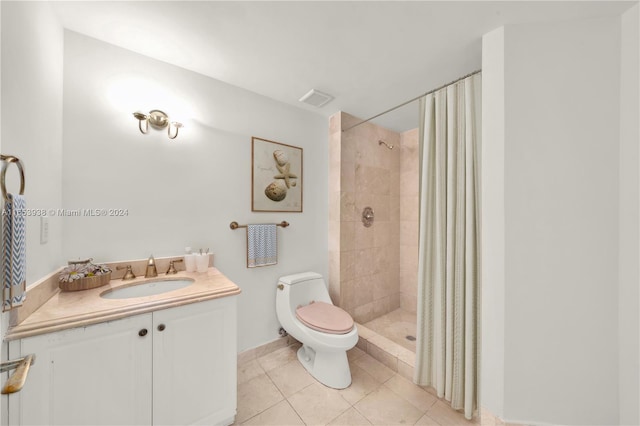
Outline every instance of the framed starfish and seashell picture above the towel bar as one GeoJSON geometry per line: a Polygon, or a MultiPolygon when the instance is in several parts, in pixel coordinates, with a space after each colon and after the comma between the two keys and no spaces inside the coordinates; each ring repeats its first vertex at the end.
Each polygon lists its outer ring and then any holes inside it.
{"type": "Polygon", "coordinates": [[[302,213],[302,148],[251,138],[251,211],[302,213]]]}

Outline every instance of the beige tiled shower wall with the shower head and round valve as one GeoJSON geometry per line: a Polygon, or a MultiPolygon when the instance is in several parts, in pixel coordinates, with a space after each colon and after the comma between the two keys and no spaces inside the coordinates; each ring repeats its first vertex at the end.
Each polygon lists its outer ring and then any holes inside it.
{"type": "Polygon", "coordinates": [[[346,113],[330,119],[329,292],[358,322],[400,307],[400,134],[346,113]],[[394,149],[378,144],[384,140],[394,149]],[[372,207],[373,226],[362,210],[372,207]]]}

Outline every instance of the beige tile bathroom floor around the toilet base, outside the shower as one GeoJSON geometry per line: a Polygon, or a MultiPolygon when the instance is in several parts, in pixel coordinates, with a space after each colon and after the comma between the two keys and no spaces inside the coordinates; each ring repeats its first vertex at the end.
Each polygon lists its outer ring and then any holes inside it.
{"type": "Polygon", "coordinates": [[[236,424],[480,424],[465,420],[445,402],[358,348],[348,352],[351,386],[325,387],[298,362],[298,347],[281,348],[238,365],[236,424]]]}

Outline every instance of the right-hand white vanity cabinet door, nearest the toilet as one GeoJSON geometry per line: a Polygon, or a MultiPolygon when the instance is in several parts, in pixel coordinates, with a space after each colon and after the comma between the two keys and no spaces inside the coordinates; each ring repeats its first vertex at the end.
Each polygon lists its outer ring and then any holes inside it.
{"type": "Polygon", "coordinates": [[[230,424],[236,414],[236,298],[153,313],[153,423],[230,424]]]}

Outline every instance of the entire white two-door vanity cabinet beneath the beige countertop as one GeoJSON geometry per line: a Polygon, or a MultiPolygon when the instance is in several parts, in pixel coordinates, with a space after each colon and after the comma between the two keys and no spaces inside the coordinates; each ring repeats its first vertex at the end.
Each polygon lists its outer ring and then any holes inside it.
{"type": "Polygon", "coordinates": [[[236,323],[223,297],[10,341],[36,361],[9,424],[230,424],[236,323]]]}

